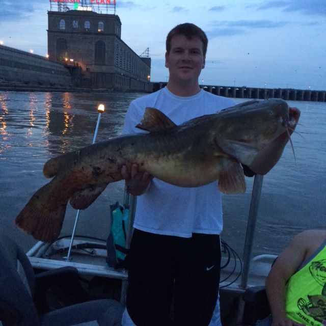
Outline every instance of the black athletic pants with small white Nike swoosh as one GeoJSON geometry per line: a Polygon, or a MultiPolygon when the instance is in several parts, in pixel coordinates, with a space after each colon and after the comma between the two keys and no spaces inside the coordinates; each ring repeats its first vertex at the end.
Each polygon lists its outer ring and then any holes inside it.
{"type": "Polygon", "coordinates": [[[207,326],[218,297],[220,236],[135,229],[127,257],[127,311],[137,326],[207,326]],[[172,305],[173,302],[173,305],[172,305]]]}

